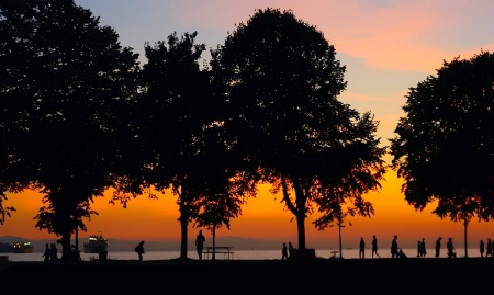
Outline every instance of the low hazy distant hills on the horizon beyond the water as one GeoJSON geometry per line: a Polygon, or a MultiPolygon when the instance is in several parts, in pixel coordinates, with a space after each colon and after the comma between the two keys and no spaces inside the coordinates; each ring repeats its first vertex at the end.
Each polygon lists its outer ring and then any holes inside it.
{"type": "MultiPolygon", "coordinates": [[[[109,241],[109,251],[133,251],[135,246],[139,242],[139,240],[117,240],[111,239],[111,237],[104,237],[109,241]]],[[[193,237],[189,237],[188,248],[190,250],[194,249],[194,239],[193,237]]],[[[15,236],[2,236],[0,237],[0,246],[4,246],[4,249],[0,248],[0,252],[9,252],[9,247],[20,241],[30,241],[33,246],[33,252],[43,252],[45,249],[45,243],[56,242],[55,239],[49,240],[33,240],[25,237],[15,237],[15,236]]],[[[79,237],[79,250],[82,251],[83,242],[88,240],[88,237],[79,237]]],[[[76,241],[72,239],[72,243],[76,241]]],[[[212,237],[206,236],[205,246],[212,246],[212,237]]],[[[268,249],[281,249],[282,241],[269,241],[269,240],[259,240],[251,238],[240,238],[240,237],[222,237],[216,238],[216,246],[232,246],[238,250],[268,250],[268,249]]],[[[173,251],[180,250],[180,241],[146,241],[145,243],[146,251],[173,251]]]]}

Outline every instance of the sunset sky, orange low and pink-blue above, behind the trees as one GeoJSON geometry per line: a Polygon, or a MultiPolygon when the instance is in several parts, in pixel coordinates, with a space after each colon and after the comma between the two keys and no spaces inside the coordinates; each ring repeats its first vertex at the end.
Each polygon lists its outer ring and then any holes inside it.
{"type": "MultiPolygon", "coordinates": [[[[380,122],[377,136],[383,146],[394,137],[398,118],[405,116],[402,106],[409,88],[435,76],[444,61],[459,57],[470,59],[481,50],[494,52],[493,0],[76,0],[76,4],[92,11],[101,25],[113,27],[121,45],[132,47],[146,63],[144,44],[166,41],[177,32],[198,32],[197,44],[209,48],[222,45],[238,23],[246,23],[257,9],[291,10],[295,18],[316,26],[335,46],[336,58],[347,67],[346,91],[339,100],[360,113],[371,112],[380,122]]],[[[207,55],[203,55],[207,59],[207,55]]],[[[385,160],[391,162],[391,156],[385,160]]],[[[390,170],[382,188],[364,197],[374,206],[372,217],[349,217],[341,227],[345,248],[357,248],[360,237],[370,247],[372,235],[380,248],[389,249],[393,235],[400,247],[413,248],[425,238],[428,247],[441,236],[452,237],[457,248],[464,246],[461,223],[440,219],[431,213],[435,204],[417,212],[401,192],[403,181],[390,170]],[[351,223],[351,225],[350,225],[351,223]]],[[[88,232],[102,231],[108,239],[177,241],[180,239],[178,206],[169,192],[158,200],[139,196],[127,208],[108,203],[108,196],[96,198],[99,213],[85,220],[88,232]]],[[[0,236],[13,235],[30,239],[55,239],[54,234],[35,228],[41,195],[34,192],[9,194],[4,206],[18,211],[0,225],[0,236]]],[[[294,216],[284,208],[280,195],[262,185],[256,198],[250,198],[242,215],[223,227],[216,237],[242,237],[297,243],[294,216]]],[[[307,248],[338,248],[338,227],[317,230],[311,215],[305,222],[307,248]]],[[[189,239],[199,228],[189,226],[189,239]]],[[[207,240],[211,234],[203,230],[207,240]]],[[[494,222],[472,219],[468,227],[468,246],[480,239],[494,238],[494,222]]],[[[281,246],[280,246],[281,248],[281,246]]]]}

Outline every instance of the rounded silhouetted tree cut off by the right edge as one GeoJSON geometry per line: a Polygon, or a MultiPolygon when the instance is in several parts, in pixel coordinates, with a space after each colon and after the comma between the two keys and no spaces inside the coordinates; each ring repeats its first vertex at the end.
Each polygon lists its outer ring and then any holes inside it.
{"type": "Polygon", "coordinates": [[[494,55],[444,61],[437,76],[411,88],[391,140],[405,200],[467,226],[494,217],[494,55]]]}

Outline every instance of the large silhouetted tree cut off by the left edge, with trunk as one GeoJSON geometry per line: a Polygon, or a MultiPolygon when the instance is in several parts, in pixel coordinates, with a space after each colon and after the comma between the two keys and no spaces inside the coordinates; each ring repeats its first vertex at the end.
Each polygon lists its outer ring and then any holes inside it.
{"type": "Polygon", "coordinates": [[[137,55],[70,0],[1,1],[0,44],[0,179],[44,194],[36,227],[67,258],[128,156],[137,55]]]}

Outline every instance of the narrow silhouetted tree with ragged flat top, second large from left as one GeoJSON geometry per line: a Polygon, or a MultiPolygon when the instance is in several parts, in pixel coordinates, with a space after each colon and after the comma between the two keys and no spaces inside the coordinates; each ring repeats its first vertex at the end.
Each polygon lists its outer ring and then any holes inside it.
{"type": "Polygon", "coordinates": [[[199,212],[194,170],[203,152],[203,133],[214,120],[210,75],[199,65],[204,44],[195,44],[197,32],[181,38],[145,45],[144,93],[139,103],[139,137],[148,172],[146,182],[158,191],[177,195],[181,228],[180,258],[188,252],[188,225],[199,212]]]}

